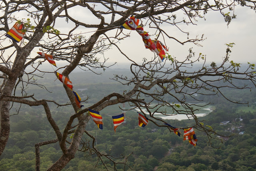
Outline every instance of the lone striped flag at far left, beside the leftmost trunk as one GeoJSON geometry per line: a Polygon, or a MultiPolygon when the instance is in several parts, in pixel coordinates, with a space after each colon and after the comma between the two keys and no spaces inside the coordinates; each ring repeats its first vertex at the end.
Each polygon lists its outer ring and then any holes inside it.
{"type": "Polygon", "coordinates": [[[22,23],[19,24],[19,22],[16,22],[5,36],[18,43],[20,40],[22,40],[25,34],[25,32],[22,31],[23,29],[24,25],[22,23]]]}

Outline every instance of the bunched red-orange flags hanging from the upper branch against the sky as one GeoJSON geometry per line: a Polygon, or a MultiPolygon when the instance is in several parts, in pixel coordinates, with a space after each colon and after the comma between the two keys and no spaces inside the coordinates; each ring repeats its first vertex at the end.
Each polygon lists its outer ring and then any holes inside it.
{"type": "Polygon", "coordinates": [[[128,30],[136,30],[140,36],[142,36],[142,40],[144,45],[147,49],[151,50],[152,52],[156,52],[158,56],[163,61],[165,58],[164,50],[168,51],[166,46],[158,40],[151,40],[148,32],[144,31],[142,26],[139,26],[139,19],[131,16],[129,20],[127,20],[120,28],[125,28],[128,30]]]}

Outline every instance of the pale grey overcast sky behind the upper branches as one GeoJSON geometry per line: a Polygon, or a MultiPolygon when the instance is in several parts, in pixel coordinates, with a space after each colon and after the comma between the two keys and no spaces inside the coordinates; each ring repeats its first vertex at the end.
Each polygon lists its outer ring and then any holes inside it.
{"type": "MultiPolygon", "coordinates": [[[[70,16],[76,16],[79,13],[84,13],[86,10],[84,8],[77,8],[76,10],[69,11],[70,16]]],[[[200,44],[203,47],[195,46],[192,43],[187,43],[181,45],[173,39],[168,39],[165,37],[166,46],[169,48],[169,54],[172,57],[175,57],[178,61],[182,61],[188,55],[188,49],[193,47],[194,52],[196,52],[196,57],[199,53],[206,55],[207,62],[221,62],[222,58],[226,53],[226,43],[235,43],[236,45],[232,48],[232,53],[230,60],[235,62],[246,63],[246,62],[255,62],[255,52],[254,50],[256,45],[256,13],[250,8],[241,8],[235,7],[235,14],[237,18],[232,20],[230,25],[227,27],[227,23],[224,22],[223,16],[219,12],[208,12],[206,14],[206,21],[204,19],[199,19],[198,22],[195,22],[197,25],[186,25],[181,23],[179,26],[185,32],[189,32],[190,39],[196,37],[196,35],[201,36],[204,34],[204,37],[207,38],[200,44]]],[[[81,15],[80,15],[81,16],[81,15]]],[[[178,13],[178,17],[183,18],[183,13],[178,13]]],[[[21,18],[27,18],[26,15],[20,16],[21,18]]],[[[82,15],[82,20],[86,22],[96,22],[98,24],[99,20],[95,20],[93,16],[82,15]]],[[[65,33],[70,30],[71,22],[66,23],[63,19],[63,22],[58,21],[54,28],[60,30],[61,33],[65,33]]],[[[92,23],[90,23],[92,24],[92,23]]],[[[11,27],[11,26],[10,26],[11,27]]],[[[154,34],[153,30],[148,28],[149,26],[144,26],[144,30],[149,32],[149,34],[154,34]]],[[[187,40],[187,35],[180,32],[175,26],[162,26],[166,32],[172,37],[177,38],[181,42],[187,40]]],[[[116,32],[117,29],[111,31],[116,32]]],[[[90,32],[92,29],[81,28],[77,33],[90,32]]],[[[126,38],[118,44],[121,50],[132,60],[142,63],[142,58],[147,58],[151,60],[154,57],[154,53],[144,47],[141,36],[136,31],[123,30],[124,33],[129,33],[130,38],[126,38]]],[[[93,33],[85,34],[87,37],[93,33]]],[[[151,39],[154,39],[156,36],[152,36],[151,39]]],[[[163,42],[163,38],[159,38],[163,42]]],[[[34,49],[34,52],[31,53],[33,56],[37,56],[36,52],[38,50],[34,49]]],[[[100,57],[100,56],[99,56],[100,57]]],[[[121,64],[130,64],[130,62],[118,52],[116,48],[112,48],[104,52],[105,58],[110,58],[109,62],[114,63],[118,62],[118,66],[121,64]]],[[[60,66],[59,66],[60,67],[60,66]]]]}

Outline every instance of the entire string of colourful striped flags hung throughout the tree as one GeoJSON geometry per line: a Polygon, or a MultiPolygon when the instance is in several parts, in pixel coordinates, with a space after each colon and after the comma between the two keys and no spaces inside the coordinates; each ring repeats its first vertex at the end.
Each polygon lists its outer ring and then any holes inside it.
{"type": "MultiPolygon", "coordinates": [[[[128,30],[136,30],[140,36],[142,36],[142,41],[144,42],[144,46],[151,50],[152,52],[155,52],[160,59],[163,61],[165,58],[165,51],[168,51],[166,46],[160,42],[159,40],[151,40],[148,32],[144,31],[144,28],[142,26],[139,26],[139,19],[135,18],[134,16],[131,16],[129,20],[127,20],[122,26],[119,28],[124,28],[128,30]],[[165,51],[164,51],[165,50],[165,51]]],[[[16,22],[14,26],[6,33],[6,37],[14,40],[15,42],[20,42],[25,34],[24,30],[24,24],[20,22],[16,22]]],[[[40,56],[44,57],[50,64],[53,66],[56,66],[56,63],[54,61],[54,58],[52,55],[45,54],[43,52],[37,52],[40,56]]],[[[81,105],[81,98],[76,93],[76,91],[73,90],[73,84],[72,82],[62,74],[55,72],[56,77],[60,82],[65,84],[75,96],[76,105],[81,108],[83,105],[81,105]]],[[[91,115],[93,121],[96,123],[99,129],[103,129],[103,122],[102,122],[102,116],[98,111],[94,111],[92,109],[88,109],[89,114],[91,115]]],[[[148,124],[148,118],[142,114],[138,113],[138,125],[140,127],[145,127],[148,124]]],[[[124,122],[124,113],[116,116],[112,116],[113,124],[114,124],[114,131],[116,132],[116,128],[121,125],[124,122]]],[[[173,127],[172,125],[169,125],[168,123],[164,123],[165,125],[168,125],[170,129],[174,131],[176,135],[180,137],[181,133],[179,131],[179,128],[173,127]]],[[[196,134],[194,132],[193,128],[184,129],[184,141],[188,140],[190,144],[194,145],[194,147],[197,145],[197,138],[196,134]]]]}

